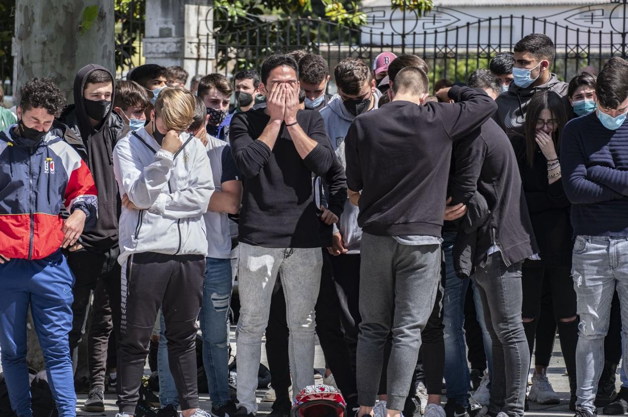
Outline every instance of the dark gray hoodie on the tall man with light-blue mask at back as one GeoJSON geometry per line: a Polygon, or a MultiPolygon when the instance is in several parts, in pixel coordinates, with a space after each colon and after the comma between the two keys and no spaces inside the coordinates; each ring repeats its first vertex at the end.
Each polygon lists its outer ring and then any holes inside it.
{"type": "Polygon", "coordinates": [[[506,132],[509,139],[512,140],[514,136],[525,136],[524,124],[526,122],[526,112],[528,111],[528,102],[534,95],[534,93],[550,90],[565,100],[565,110],[567,114],[571,114],[571,104],[567,97],[568,83],[558,80],[556,74],[552,73],[548,82],[537,87],[517,87],[514,83],[511,83],[507,92],[501,93],[495,100],[497,102],[497,124],[506,132]]]}

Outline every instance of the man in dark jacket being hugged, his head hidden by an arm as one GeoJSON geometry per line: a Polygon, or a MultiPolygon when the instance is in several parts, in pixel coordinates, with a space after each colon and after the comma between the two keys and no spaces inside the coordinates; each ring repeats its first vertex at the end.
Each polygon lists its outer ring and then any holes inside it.
{"type": "Polygon", "coordinates": [[[473,275],[492,340],[488,415],[522,416],[529,350],[521,320],[521,265],[538,247],[512,145],[487,120],[453,146],[452,204],[463,203],[453,248],[458,277],[473,275]]]}

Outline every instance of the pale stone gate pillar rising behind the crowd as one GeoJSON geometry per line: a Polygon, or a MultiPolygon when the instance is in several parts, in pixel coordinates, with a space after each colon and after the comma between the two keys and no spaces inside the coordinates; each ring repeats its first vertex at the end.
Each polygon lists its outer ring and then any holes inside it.
{"type": "Polygon", "coordinates": [[[146,63],[179,65],[188,73],[213,70],[212,0],[146,0],[143,53],[146,63]]]}

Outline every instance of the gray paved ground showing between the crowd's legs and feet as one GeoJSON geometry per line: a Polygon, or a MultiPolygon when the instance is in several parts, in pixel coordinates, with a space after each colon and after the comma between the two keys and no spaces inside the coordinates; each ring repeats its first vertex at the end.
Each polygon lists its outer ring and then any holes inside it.
{"type": "MultiPolygon", "coordinates": [[[[232,342],[234,342],[234,334],[232,332],[232,342]]],[[[235,344],[232,343],[232,346],[235,347],[235,344]]],[[[262,351],[262,361],[266,363],[266,352],[262,351]]],[[[534,361],[534,359],[533,359],[534,361]]],[[[323,368],[325,366],[325,362],[322,356],[322,352],[320,347],[317,346],[316,349],[316,357],[315,357],[315,367],[323,368]]],[[[148,367],[146,372],[149,373],[148,367]]],[[[555,343],[555,353],[551,360],[551,366],[548,371],[549,380],[554,386],[554,389],[561,396],[561,404],[554,406],[539,406],[535,403],[530,404],[530,411],[526,413],[526,416],[573,416],[573,411],[569,411],[568,402],[569,402],[569,385],[567,381],[567,376],[565,375],[565,362],[563,362],[562,354],[560,353],[560,344],[558,343],[558,339],[556,339],[555,343]]],[[[619,390],[619,376],[617,377],[619,390]]],[[[257,391],[258,401],[264,396],[264,391],[257,391]]],[[[114,393],[106,394],[106,412],[102,414],[98,413],[85,413],[80,409],[82,404],[85,401],[85,395],[80,395],[78,399],[78,407],[77,407],[77,415],[80,417],[114,417],[116,414],[116,396],[114,393]]],[[[443,404],[447,401],[447,399],[443,396],[443,404]]],[[[207,394],[203,394],[201,396],[201,406],[204,409],[210,409],[211,403],[209,400],[209,396],[207,394]]],[[[270,403],[261,403],[259,406],[259,413],[268,413],[270,411],[270,403]]],[[[600,414],[602,413],[602,409],[598,411],[600,414]]]]}

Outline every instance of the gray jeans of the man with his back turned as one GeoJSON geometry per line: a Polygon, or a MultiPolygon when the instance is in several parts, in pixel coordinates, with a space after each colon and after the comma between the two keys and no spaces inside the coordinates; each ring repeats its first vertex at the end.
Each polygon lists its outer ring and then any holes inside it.
{"type": "Polygon", "coordinates": [[[440,280],[441,246],[402,245],[391,236],[362,235],[360,243],[360,335],[357,391],[361,406],[373,406],[392,332],[387,367],[387,408],[401,410],[410,389],[421,332],[430,317],[440,280]]]}

